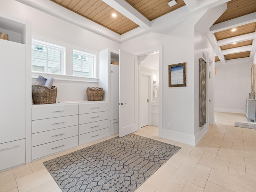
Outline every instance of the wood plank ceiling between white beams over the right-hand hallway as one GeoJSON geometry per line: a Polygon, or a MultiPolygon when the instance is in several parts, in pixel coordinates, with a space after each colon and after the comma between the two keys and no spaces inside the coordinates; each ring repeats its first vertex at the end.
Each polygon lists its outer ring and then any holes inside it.
{"type": "MultiPolygon", "coordinates": [[[[220,18],[218,18],[218,20],[216,20],[214,24],[218,24],[221,22],[225,22],[234,18],[238,18],[240,16],[244,16],[244,15],[256,12],[256,0],[232,0],[227,2],[227,7],[228,7],[227,10],[220,16],[220,18]]],[[[232,28],[230,28],[227,30],[216,32],[214,33],[214,36],[218,41],[218,40],[241,36],[244,34],[250,34],[255,32],[255,29],[256,29],[256,22],[252,22],[249,24],[236,27],[235,31],[232,31],[232,28]]],[[[228,45],[220,46],[220,49],[228,50],[232,48],[252,45],[253,43],[254,43],[253,40],[245,40],[242,42],[237,42],[236,44],[228,44],[228,45]]],[[[245,58],[249,56],[250,56],[250,51],[224,55],[226,60],[245,58]]],[[[215,57],[215,61],[220,61],[220,59],[218,57],[215,57]]]]}

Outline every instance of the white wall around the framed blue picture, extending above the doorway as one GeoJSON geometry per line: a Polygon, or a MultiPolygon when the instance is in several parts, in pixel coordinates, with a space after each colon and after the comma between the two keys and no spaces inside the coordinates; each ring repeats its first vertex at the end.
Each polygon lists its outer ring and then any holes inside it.
{"type": "MultiPolygon", "coordinates": [[[[127,52],[163,46],[162,137],[194,145],[194,25],[202,14],[169,24],[121,44],[127,52]],[[174,26],[175,25],[175,26],[174,26]],[[187,63],[186,87],[168,87],[168,65],[187,63]],[[170,129],[167,124],[170,123],[170,129]]],[[[159,101],[161,102],[161,101],[159,101]]]]}

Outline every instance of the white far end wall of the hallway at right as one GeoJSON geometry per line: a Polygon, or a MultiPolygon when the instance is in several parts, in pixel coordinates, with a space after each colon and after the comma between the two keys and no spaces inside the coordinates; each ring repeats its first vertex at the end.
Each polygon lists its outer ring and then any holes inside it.
{"type": "Polygon", "coordinates": [[[215,111],[244,113],[251,92],[252,63],[246,59],[215,62],[215,111]]]}

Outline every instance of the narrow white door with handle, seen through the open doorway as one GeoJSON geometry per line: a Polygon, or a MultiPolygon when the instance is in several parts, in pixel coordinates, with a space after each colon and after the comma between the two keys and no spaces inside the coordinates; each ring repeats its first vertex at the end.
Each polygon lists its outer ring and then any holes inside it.
{"type": "Polygon", "coordinates": [[[144,74],[140,76],[140,127],[148,125],[149,78],[144,74]]]}

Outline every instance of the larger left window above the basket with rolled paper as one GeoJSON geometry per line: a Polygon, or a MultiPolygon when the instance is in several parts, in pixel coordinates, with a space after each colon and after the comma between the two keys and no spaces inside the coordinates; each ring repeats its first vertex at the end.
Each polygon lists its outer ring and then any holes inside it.
{"type": "Polygon", "coordinates": [[[32,72],[65,74],[64,54],[62,46],[32,40],[32,72]]]}

